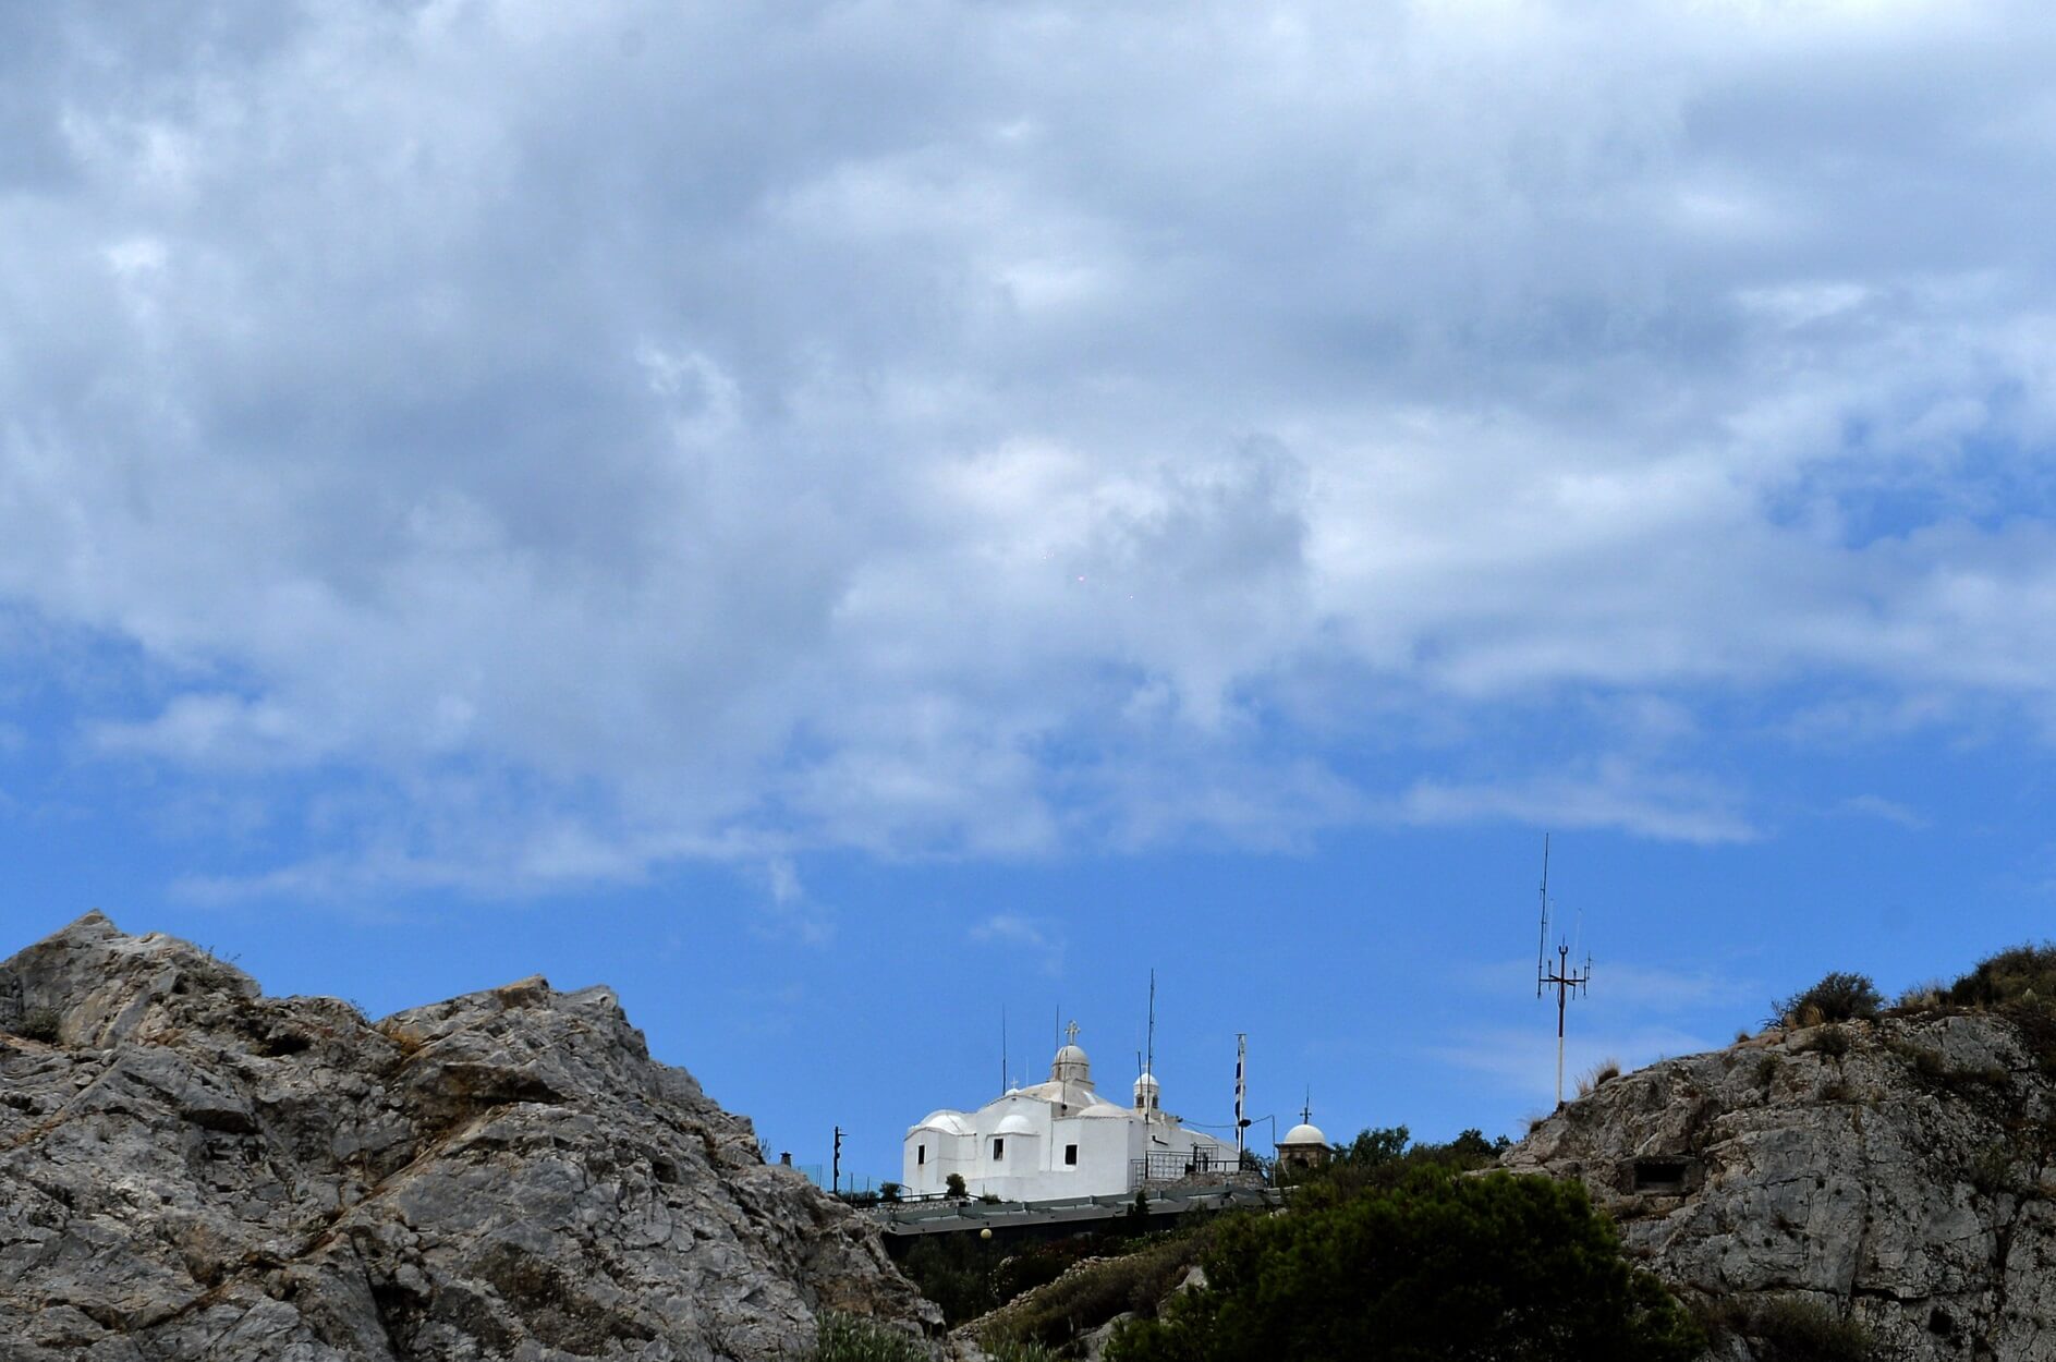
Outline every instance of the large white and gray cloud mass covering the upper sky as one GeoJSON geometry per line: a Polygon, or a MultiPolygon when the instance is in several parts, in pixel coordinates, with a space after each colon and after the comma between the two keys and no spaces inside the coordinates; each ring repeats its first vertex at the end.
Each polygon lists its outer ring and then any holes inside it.
{"type": "Polygon", "coordinates": [[[2025,6],[103,19],[0,19],[0,603],[366,792],[282,889],[1733,841],[1706,697],[2056,714],[2025,6]]]}

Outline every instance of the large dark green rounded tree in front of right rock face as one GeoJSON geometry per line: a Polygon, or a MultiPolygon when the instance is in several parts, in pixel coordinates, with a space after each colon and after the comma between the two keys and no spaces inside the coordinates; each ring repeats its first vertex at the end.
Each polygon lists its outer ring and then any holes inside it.
{"type": "Polygon", "coordinates": [[[1579,1183],[1419,1167],[1223,1228],[1108,1362],[1688,1362],[1704,1337],[1579,1183]]]}

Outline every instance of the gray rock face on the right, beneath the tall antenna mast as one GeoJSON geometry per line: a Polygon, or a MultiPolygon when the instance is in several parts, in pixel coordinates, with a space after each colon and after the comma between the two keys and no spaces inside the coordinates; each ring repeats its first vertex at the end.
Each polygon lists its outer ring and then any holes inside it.
{"type": "Polygon", "coordinates": [[[1772,1031],[1614,1078],[1505,1162],[1583,1179],[1688,1294],[1807,1300],[1908,1362],[2056,1360],[2042,1031],[1982,1012],[1772,1031]]]}

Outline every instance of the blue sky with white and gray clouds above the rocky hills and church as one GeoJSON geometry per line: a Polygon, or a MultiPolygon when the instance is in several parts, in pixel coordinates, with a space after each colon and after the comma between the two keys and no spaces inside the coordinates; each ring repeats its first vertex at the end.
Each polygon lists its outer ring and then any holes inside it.
{"type": "Polygon", "coordinates": [[[611,983],[771,1150],[1519,1134],[2050,934],[2056,23],[0,8],[0,953],[611,983]],[[1003,1039],[1005,1037],[1005,1039],[1003,1039]]]}

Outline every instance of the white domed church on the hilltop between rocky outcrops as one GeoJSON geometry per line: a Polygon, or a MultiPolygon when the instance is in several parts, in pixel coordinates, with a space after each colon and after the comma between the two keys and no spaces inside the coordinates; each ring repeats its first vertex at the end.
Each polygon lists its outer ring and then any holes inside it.
{"type": "Polygon", "coordinates": [[[1234,1144],[1184,1130],[1164,1111],[1155,1076],[1135,1080],[1129,1107],[1094,1092],[1092,1062],[1071,1023],[1049,1082],[1009,1088],[977,1111],[931,1111],[909,1130],[901,1181],[913,1195],[938,1193],[960,1173],[975,1197],[1055,1202],[1227,1177],[1236,1167],[1234,1144]]]}

